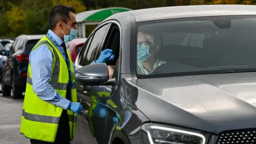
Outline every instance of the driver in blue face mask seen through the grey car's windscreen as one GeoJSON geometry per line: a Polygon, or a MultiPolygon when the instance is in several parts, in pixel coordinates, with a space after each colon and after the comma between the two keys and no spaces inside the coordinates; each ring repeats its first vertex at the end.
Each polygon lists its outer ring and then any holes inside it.
{"type": "Polygon", "coordinates": [[[154,35],[138,33],[137,37],[137,71],[139,75],[149,75],[157,67],[166,63],[157,58],[161,47],[157,45],[154,35]]]}

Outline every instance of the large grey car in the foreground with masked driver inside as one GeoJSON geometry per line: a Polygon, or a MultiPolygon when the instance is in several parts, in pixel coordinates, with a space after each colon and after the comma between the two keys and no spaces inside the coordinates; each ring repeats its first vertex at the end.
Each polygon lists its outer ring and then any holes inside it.
{"type": "MultiPolygon", "coordinates": [[[[78,125],[88,119],[99,144],[255,144],[255,9],[172,6],[110,16],[75,61],[82,66],[75,74],[83,104],[78,125]],[[148,34],[143,41],[139,32],[148,34]],[[150,47],[150,54],[159,50],[155,60],[166,63],[141,74],[141,45],[150,47]],[[114,61],[90,65],[105,49],[113,50],[114,61]],[[115,65],[113,79],[107,65],[115,65]],[[92,89],[102,97],[91,97],[92,89]],[[106,115],[96,111],[87,117],[94,103],[106,108],[106,115]]],[[[82,139],[87,131],[77,127],[82,139]]]]}

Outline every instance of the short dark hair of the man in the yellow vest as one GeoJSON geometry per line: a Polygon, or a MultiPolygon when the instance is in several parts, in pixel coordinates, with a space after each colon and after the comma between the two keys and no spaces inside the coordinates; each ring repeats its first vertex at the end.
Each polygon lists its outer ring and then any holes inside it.
{"type": "Polygon", "coordinates": [[[52,7],[49,14],[49,29],[54,30],[59,21],[67,24],[70,20],[69,12],[75,13],[75,9],[66,5],[55,5],[52,7]]]}

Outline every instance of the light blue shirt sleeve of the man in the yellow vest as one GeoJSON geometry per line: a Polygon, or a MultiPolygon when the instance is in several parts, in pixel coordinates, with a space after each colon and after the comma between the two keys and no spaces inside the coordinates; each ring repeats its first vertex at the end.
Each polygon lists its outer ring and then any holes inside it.
{"type": "Polygon", "coordinates": [[[54,106],[67,109],[70,101],[61,97],[49,83],[52,72],[53,57],[49,47],[45,44],[39,45],[29,55],[33,91],[37,96],[54,106]]]}

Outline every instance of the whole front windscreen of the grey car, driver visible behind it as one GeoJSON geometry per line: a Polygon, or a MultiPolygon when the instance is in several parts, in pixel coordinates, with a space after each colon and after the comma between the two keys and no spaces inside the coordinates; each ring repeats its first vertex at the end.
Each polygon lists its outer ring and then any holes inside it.
{"type": "Polygon", "coordinates": [[[214,74],[256,68],[256,16],[137,23],[137,75],[214,74]]]}

